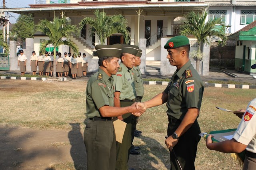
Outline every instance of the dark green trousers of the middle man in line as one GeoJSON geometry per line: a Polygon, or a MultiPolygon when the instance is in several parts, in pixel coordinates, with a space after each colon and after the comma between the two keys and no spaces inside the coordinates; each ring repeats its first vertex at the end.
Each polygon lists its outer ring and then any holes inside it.
{"type": "MultiPolygon", "coordinates": [[[[120,102],[121,107],[132,105],[134,102],[120,102]]],[[[116,142],[116,170],[128,170],[128,157],[132,142],[132,118],[131,113],[122,116],[126,124],[122,143],[116,142]]]]}

